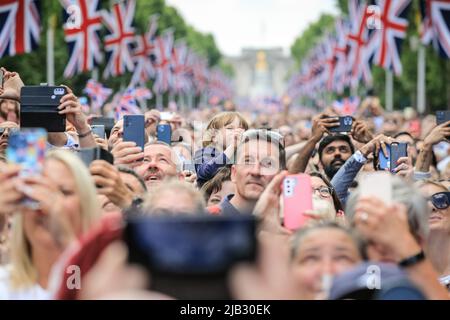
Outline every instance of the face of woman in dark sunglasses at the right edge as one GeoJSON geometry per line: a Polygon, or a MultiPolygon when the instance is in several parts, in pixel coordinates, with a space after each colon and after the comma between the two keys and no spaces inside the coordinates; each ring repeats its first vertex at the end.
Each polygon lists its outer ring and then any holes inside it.
{"type": "MultiPolygon", "coordinates": [[[[445,192],[446,190],[432,184],[426,184],[420,188],[420,191],[426,199],[429,199],[433,194],[445,192]]],[[[437,209],[433,206],[431,200],[428,200],[428,208],[430,209],[428,217],[430,232],[438,230],[450,231],[450,207],[437,209]]]]}

